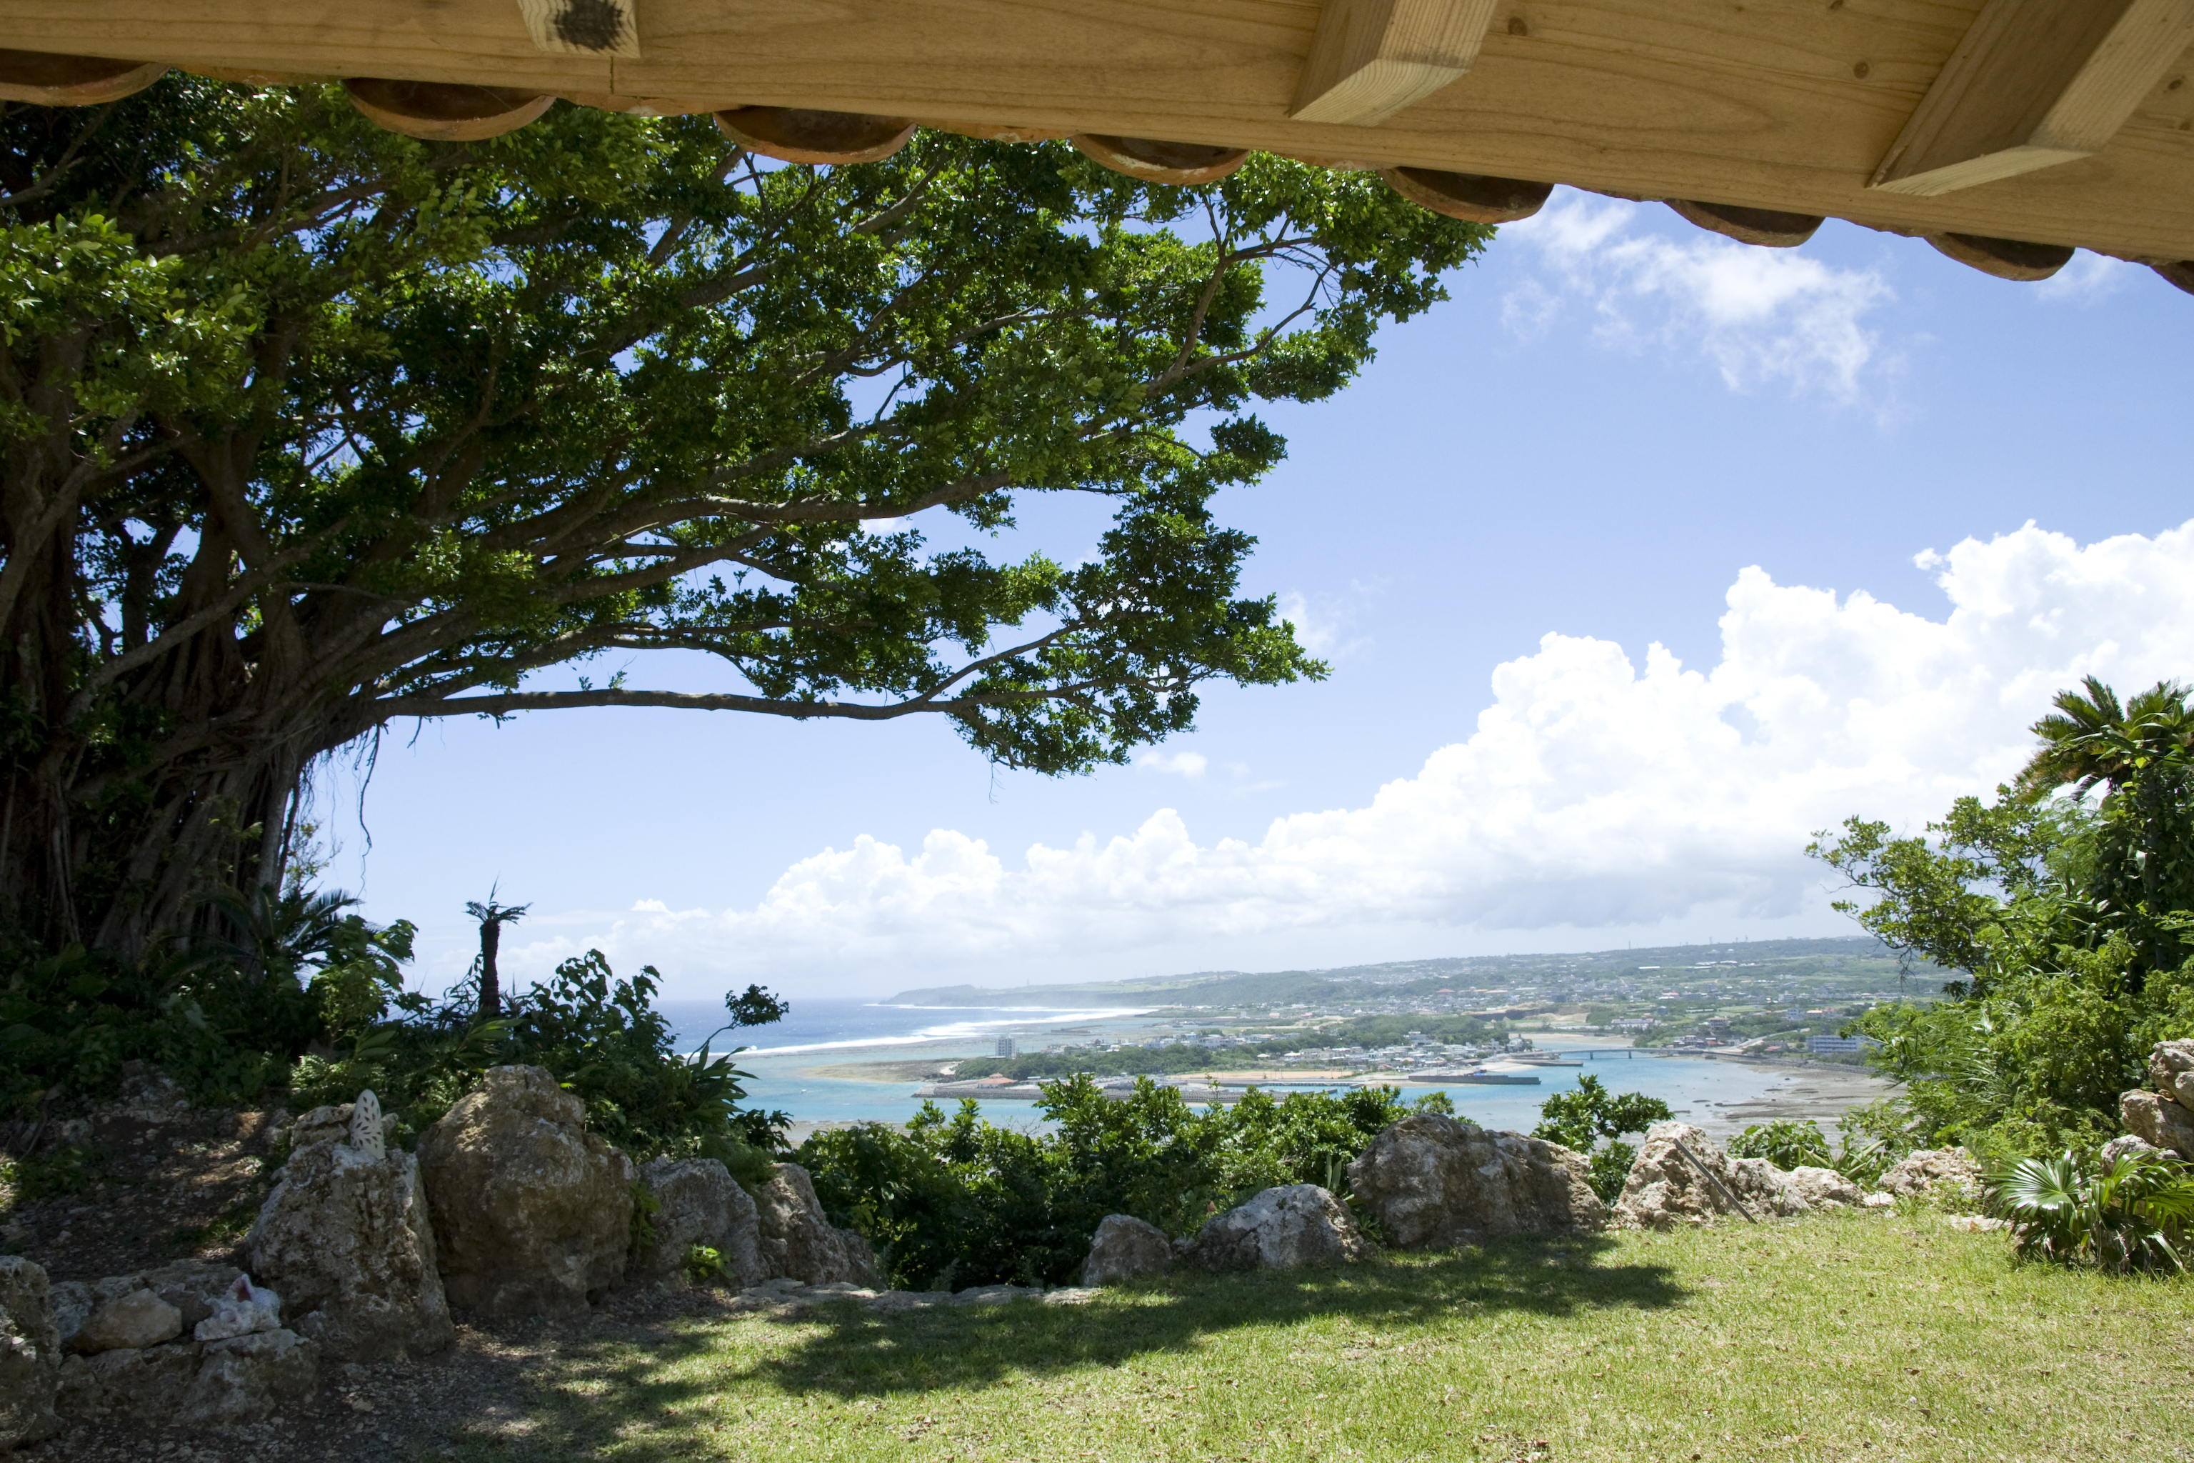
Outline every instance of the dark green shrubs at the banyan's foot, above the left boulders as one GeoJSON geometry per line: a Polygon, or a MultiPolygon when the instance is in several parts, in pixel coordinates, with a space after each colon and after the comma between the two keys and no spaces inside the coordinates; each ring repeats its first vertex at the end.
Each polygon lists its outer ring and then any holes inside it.
{"type": "MultiPolygon", "coordinates": [[[[222,897],[215,934],[138,963],[81,945],[18,954],[0,994],[0,1112],[105,1099],[123,1064],[147,1062],[200,1103],[340,1103],[373,1088],[410,1138],[483,1070],[524,1062],[555,1073],[588,1125],[636,1158],[715,1156],[757,1178],[783,1147],[785,1114],[742,1108],[731,1053],[676,1051],[652,965],[619,978],[590,950],[480,1020],[476,987],[406,991],[412,926],[371,926],[351,904],[222,897]]],[[[785,1013],[761,987],[726,994],[724,1009],[724,1031],[785,1013]]]]}

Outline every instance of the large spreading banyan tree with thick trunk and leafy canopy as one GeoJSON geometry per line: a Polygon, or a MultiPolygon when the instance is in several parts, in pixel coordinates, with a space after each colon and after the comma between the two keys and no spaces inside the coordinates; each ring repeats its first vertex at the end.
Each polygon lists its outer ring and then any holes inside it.
{"type": "Polygon", "coordinates": [[[419,143],[189,77],[0,105],[0,888],[121,954],[276,884],[312,763],[397,717],[935,713],[1068,772],[1319,676],[1209,500],[1490,233],[1262,156],[419,143]],[[1097,553],[985,555],[1025,494],[1110,498],[1097,553]],[[538,680],[654,649],[722,689],[538,680]]]}

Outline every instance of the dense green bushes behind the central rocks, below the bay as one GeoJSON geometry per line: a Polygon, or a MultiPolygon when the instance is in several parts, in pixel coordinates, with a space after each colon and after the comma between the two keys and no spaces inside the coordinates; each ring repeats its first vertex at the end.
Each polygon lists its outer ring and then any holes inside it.
{"type": "Polygon", "coordinates": [[[924,1103],[904,1127],[818,1132],[794,1156],[834,1224],[878,1248],[895,1285],[954,1290],[1071,1281],[1099,1220],[1126,1213],[1172,1235],[1273,1184],[1345,1191],[1347,1163],[1413,1110],[1393,1088],[1338,1097],[1251,1090],[1196,1112],[1180,1092],[1139,1081],[1110,1099],[1088,1077],[1044,1084],[1042,1132],[998,1127],[970,1099],[946,1116],[924,1103]]]}

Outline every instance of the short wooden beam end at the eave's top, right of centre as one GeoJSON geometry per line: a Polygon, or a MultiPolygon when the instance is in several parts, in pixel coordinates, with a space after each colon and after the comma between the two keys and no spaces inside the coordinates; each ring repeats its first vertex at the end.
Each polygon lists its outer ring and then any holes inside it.
{"type": "Polygon", "coordinates": [[[1424,101],[1479,59],[1499,2],[1325,0],[1288,116],[1373,127],[1424,101]]]}

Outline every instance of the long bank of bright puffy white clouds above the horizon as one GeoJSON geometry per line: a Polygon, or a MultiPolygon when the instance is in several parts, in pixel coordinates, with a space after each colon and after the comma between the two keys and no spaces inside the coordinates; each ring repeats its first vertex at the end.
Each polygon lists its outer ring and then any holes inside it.
{"type": "Polygon", "coordinates": [[[2130,689],[2194,671],[2194,522],[2086,546],[2027,524],[1918,564],[1948,601],[1939,619],[1746,568],[1703,669],[1661,645],[1549,634],[1494,669],[1477,726],[1415,774],[1365,807],[1277,818],[1257,842],[1198,842],[1172,809],[1020,858],[950,829],[913,851],[858,838],[785,869],[759,904],[643,901],[529,956],[603,943],[728,978],[889,980],[1090,954],[1169,969],[1187,943],[1303,930],[1819,908],[1814,829],[1847,814],[1918,827],[1988,792],[2080,676],[2130,689]]]}

